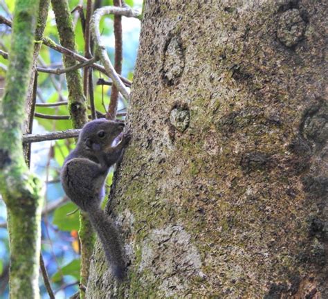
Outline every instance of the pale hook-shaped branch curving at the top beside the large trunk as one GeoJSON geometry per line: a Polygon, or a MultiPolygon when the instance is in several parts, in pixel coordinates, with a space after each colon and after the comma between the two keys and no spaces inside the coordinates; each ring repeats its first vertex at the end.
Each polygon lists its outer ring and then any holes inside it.
{"type": "Polygon", "coordinates": [[[109,78],[113,81],[113,84],[116,85],[118,91],[122,94],[124,98],[129,100],[129,92],[125,88],[125,85],[120,80],[120,76],[116,73],[111,61],[109,60],[107,50],[104,44],[102,44],[101,35],[100,35],[100,19],[104,15],[123,15],[125,17],[140,17],[140,13],[136,10],[132,10],[131,8],[119,8],[116,6],[104,6],[103,8],[98,8],[95,10],[93,17],[91,19],[91,30],[93,31],[93,38],[96,46],[98,47],[98,55],[100,57],[100,61],[104,65],[104,69],[109,75],[109,78]]]}

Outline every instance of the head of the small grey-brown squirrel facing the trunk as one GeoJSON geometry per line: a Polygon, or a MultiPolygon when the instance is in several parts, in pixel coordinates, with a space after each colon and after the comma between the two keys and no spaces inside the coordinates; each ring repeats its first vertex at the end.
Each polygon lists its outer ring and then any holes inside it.
{"type": "Polygon", "coordinates": [[[80,145],[91,152],[100,152],[111,146],[113,141],[122,133],[125,125],[105,118],[99,118],[86,123],[79,136],[80,145]]]}

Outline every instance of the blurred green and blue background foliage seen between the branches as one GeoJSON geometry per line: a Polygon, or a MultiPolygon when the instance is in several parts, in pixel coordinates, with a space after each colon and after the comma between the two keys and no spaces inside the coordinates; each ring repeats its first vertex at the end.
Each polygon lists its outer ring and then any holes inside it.
{"type": "MultiPolygon", "coordinates": [[[[112,0],[100,1],[100,6],[113,5],[112,0]]],[[[141,10],[143,0],[126,0],[129,6],[141,10]]],[[[86,0],[69,0],[69,6],[73,10],[76,6],[86,6],[86,0]]],[[[7,19],[12,19],[15,1],[0,0],[0,15],[7,19]]],[[[84,53],[84,38],[82,26],[78,12],[74,12],[73,23],[75,26],[75,43],[78,53],[84,53]]],[[[114,57],[114,37],[113,37],[113,17],[104,17],[100,23],[102,38],[107,44],[109,57],[113,62],[114,57]]],[[[140,21],[137,19],[122,18],[123,32],[123,62],[122,75],[132,80],[134,64],[138,48],[138,38],[140,32],[140,21]]],[[[0,49],[10,53],[11,29],[0,24],[0,49]]],[[[50,37],[54,42],[60,44],[55,24],[53,11],[48,13],[48,21],[44,36],[50,37]]],[[[0,96],[3,93],[3,82],[6,76],[8,60],[0,56],[0,96]]],[[[57,69],[64,68],[62,64],[62,54],[47,46],[42,46],[39,54],[38,66],[57,69]]],[[[105,114],[109,105],[111,87],[96,85],[95,82],[104,75],[98,71],[93,72],[95,107],[105,114]]],[[[108,79],[108,78],[104,78],[108,79]]],[[[60,102],[66,101],[68,91],[66,87],[65,75],[51,75],[39,73],[37,86],[37,102],[60,102]]],[[[124,112],[127,102],[119,101],[118,112],[124,112]]],[[[36,107],[37,113],[68,116],[69,111],[66,105],[58,107],[36,107]]],[[[33,122],[33,133],[43,133],[71,129],[71,120],[49,120],[35,118],[33,122]]],[[[78,290],[80,279],[80,253],[78,242],[79,213],[70,214],[76,206],[63,199],[64,192],[60,185],[59,173],[64,158],[74,147],[74,140],[49,141],[33,143],[31,170],[43,179],[46,186],[46,203],[44,206],[48,212],[42,217],[42,253],[44,262],[51,278],[53,290],[56,298],[69,298],[78,290]],[[70,214],[70,215],[67,215],[70,214]]],[[[111,185],[111,171],[107,180],[107,192],[111,185]]],[[[107,198],[107,197],[105,197],[107,198]]],[[[104,203],[103,203],[104,204],[104,203]]],[[[0,200],[0,298],[8,298],[8,232],[6,230],[6,206],[0,200]]],[[[48,298],[48,293],[44,287],[42,275],[39,284],[41,286],[42,298],[48,298]]]]}

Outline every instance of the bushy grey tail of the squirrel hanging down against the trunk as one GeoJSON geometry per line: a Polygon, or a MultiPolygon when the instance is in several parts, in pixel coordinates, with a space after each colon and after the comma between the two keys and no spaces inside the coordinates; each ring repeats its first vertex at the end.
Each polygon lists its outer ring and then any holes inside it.
{"type": "Polygon", "coordinates": [[[89,219],[102,243],[102,248],[104,248],[104,253],[113,275],[117,280],[122,281],[125,277],[125,262],[120,242],[118,241],[116,227],[111,222],[109,216],[100,208],[90,209],[89,219]]]}

